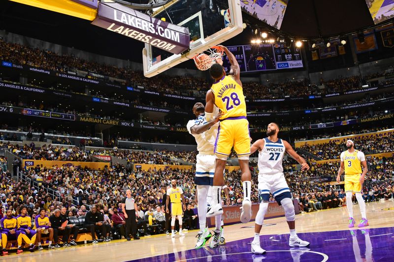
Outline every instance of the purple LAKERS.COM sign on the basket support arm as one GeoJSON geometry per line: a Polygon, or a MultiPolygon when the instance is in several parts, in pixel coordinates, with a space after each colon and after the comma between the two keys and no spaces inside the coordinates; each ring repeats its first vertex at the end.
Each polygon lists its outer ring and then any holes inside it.
{"type": "Polygon", "coordinates": [[[189,29],[150,17],[119,3],[99,2],[98,16],[92,24],[173,54],[180,54],[189,48],[189,29]]]}

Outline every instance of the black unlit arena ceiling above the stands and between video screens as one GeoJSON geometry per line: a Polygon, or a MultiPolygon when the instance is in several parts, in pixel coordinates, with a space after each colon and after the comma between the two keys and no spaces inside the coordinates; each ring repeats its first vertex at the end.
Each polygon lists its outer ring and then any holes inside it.
{"type": "MultiPolygon", "coordinates": [[[[243,14],[253,27],[265,24],[243,14]]],[[[373,26],[365,0],[289,0],[281,31],[294,37],[328,37],[373,26]]],[[[101,55],[141,62],[141,42],[90,25],[89,21],[0,0],[0,29],[101,55]]],[[[251,28],[226,44],[247,44],[251,28]]]]}

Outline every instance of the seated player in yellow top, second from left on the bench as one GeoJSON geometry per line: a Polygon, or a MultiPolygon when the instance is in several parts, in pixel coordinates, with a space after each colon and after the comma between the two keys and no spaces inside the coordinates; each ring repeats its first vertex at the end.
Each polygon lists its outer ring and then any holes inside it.
{"type": "MultiPolygon", "coordinates": [[[[22,239],[29,244],[29,251],[34,252],[36,231],[32,229],[32,219],[27,215],[28,208],[26,205],[21,206],[20,213],[21,214],[16,217],[18,222],[18,231],[20,232],[22,239]]],[[[22,250],[21,244],[22,243],[18,243],[18,250],[22,250]]]]}

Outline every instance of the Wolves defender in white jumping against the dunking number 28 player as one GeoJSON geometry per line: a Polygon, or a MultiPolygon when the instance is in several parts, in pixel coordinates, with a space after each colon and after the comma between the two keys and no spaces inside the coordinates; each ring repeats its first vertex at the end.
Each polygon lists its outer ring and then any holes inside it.
{"type": "MultiPolygon", "coordinates": [[[[213,146],[217,136],[219,118],[222,114],[213,116],[210,122],[205,118],[205,107],[202,103],[196,103],[193,107],[193,114],[197,117],[187,123],[187,129],[196,139],[197,143],[197,162],[195,184],[197,185],[196,200],[198,203],[197,212],[199,220],[199,232],[197,234],[197,243],[195,248],[201,248],[211,237],[211,233],[206,227],[206,212],[208,193],[211,191],[213,175],[215,172],[215,154],[213,146]]],[[[218,110],[217,110],[218,111],[218,110]]],[[[216,216],[216,230],[220,230],[221,215],[216,216]]],[[[212,245],[214,244],[211,241],[212,245]]],[[[211,246],[216,248],[216,246],[211,246]]]]}

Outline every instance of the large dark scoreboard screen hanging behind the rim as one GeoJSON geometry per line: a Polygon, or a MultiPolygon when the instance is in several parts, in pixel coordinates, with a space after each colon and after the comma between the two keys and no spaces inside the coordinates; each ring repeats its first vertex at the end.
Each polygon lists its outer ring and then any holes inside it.
{"type": "MultiPolygon", "coordinates": [[[[292,43],[229,46],[228,49],[238,61],[241,72],[268,71],[277,69],[302,68],[301,50],[292,43]]],[[[223,57],[223,66],[230,70],[229,58],[223,57]]]]}

